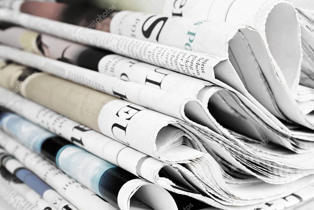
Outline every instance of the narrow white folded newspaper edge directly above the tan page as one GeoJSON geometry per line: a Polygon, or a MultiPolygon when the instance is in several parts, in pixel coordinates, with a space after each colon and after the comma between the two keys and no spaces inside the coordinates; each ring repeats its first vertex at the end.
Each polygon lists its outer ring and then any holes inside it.
{"type": "MultiPolygon", "coordinates": [[[[157,112],[178,119],[186,119],[183,108],[189,101],[189,98],[181,97],[175,93],[169,94],[165,90],[125,81],[111,75],[100,74],[97,71],[90,71],[89,69],[59,60],[51,60],[40,55],[34,55],[6,46],[0,46],[0,55],[3,58],[7,58],[19,64],[41,69],[57,77],[73,81],[118,98],[123,98],[124,100],[142,105],[157,112]],[[161,98],[162,100],[159,100],[161,98]]],[[[198,103],[197,101],[193,102],[198,103]]],[[[199,108],[203,109],[201,107],[199,108]]]]}

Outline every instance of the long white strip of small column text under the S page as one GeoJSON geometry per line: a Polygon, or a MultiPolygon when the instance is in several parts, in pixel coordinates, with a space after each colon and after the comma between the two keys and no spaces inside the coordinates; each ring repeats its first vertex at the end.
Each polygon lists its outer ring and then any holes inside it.
{"type": "MultiPolygon", "coordinates": [[[[7,11],[7,9],[6,9],[7,11]]],[[[13,11],[11,11],[13,12],[13,11]]],[[[10,12],[10,13],[11,13],[10,12]]],[[[30,16],[25,16],[25,14],[23,13],[16,13],[16,12],[13,12],[15,13],[14,16],[17,17],[17,15],[20,16],[20,18],[23,18],[23,20],[26,21],[26,19],[24,18],[30,18],[30,16]],[[23,17],[22,17],[23,16],[23,17]]],[[[11,13],[11,14],[13,14],[11,13]]],[[[7,16],[7,12],[4,12],[3,13],[4,16],[7,16]]],[[[16,23],[15,20],[12,19],[12,16],[7,16],[6,18],[4,18],[3,20],[6,20],[6,21],[13,21],[14,24],[16,23]]],[[[165,48],[165,50],[167,49],[170,49],[168,46],[165,46],[165,45],[159,45],[159,44],[154,44],[154,43],[150,43],[150,42],[142,42],[142,41],[139,41],[138,39],[133,39],[133,38],[127,38],[127,37],[122,37],[122,36],[119,36],[119,35],[115,35],[115,34],[108,34],[108,33],[105,33],[105,32],[100,32],[100,31],[97,31],[97,30],[87,30],[85,29],[84,27],[78,27],[78,26],[74,26],[74,25],[69,25],[69,24],[62,24],[62,23],[58,23],[58,22],[54,22],[54,21],[49,21],[46,23],[45,21],[47,21],[46,19],[43,19],[43,18],[38,18],[38,17],[32,17],[32,20],[27,20],[26,22],[20,22],[18,21],[19,24],[25,26],[25,27],[28,27],[28,28],[32,28],[32,29],[35,29],[35,30],[38,30],[38,31],[42,31],[42,32],[46,32],[46,33],[49,33],[51,31],[55,31],[56,28],[59,28],[60,31],[58,31],[59,33],[54,33],[54,35],[57,35],[59,37],[62,37],[62,38],[65,38],[65,39],[70,39],[70,40],[73,40],[73,41],[78,41],[77,39],[77,36],[75,35],[76,33],[84,33],[84,32],[88,32],[89,36],[83,36],[82,38],[79,39],[79,41],[81,43],[84,43],[84,44],[89,44],[89,45],[92,45],[92,46],[96,46],[96,47],[100,47],[100,48],[103,48],[103,49],[107,49],[107,50],[111,50],[117,54],[121,54],[121,55],[126,55],[128,57],[132,57],[132,58],[135,58],[135,59],[139,59],[139,60],[142,60],[142,61],[146,61],[146,62],[149,62],[149,63],[152,63],[156,66],[160,66],[160,67],[165,67],[167,69],[171,69],[171,70],[174,70],[176,71],[174,68],[172,68],[171,66],[167,66],[167,65],[164,65],[164,64],[171,64],[172,62],[176,62],[177,58],[180,60],[180,62],[182,61],[183,63],[173,63],[175,66],[177,67],[182,67],[182,68],[188,68],[188,71],[190,70],[193,70],[193,71],[199,71],[199,68],[201,69],[207,69],[206,66],[204,66],[203,64],[200,66],[200,63],[197,61],[197,57],[193,57],[193,58],[188,58],[186,60],[184,60],[184,57],[176,57],[176,55],[172,54],[172,55],[167,55],[165,54],[166,51],[162,51],[160,48],[160,53],[154,53],[154,52],[151,52],[151,51],[147,51],[147,50],[142,50],[141,49],[141,45],[146,45],[146,44],[149,44],[147,46],[151,46],[151,45],[154,45],[154,46],[163,46],[163,48],[165,48]],[[33,19],[35,18],[35,19],[33,19]],[[31,25],[29,25],[29,23],[35,23],[33,25],[33,28],[31,25]],[[27,24],[27,25],[25,25],[27,24]],[[43,24],[41,27],[38,27],[37,26],[40,26],[41,24],[43,24]],[[52,25],[51,25],[52,24],[52,25]],[[55,24],[57,24],[58,26],[56,26],[55,24]],[[61,25],[64,27],[60,27],[61,25]],[[47,29],[45,29],[47,27],[47,29]],[[52,28],[51,28],[52,27],[52,28]],[[52,29],[52,30],[51,30],[52,29]],[[100,33],[100,34],[99,34],[100,33]],[[109,38],[108,40],[106,39],[109,38]],[[115,38],[114,38],[115,37],[115,38]],[[125,40],[125,42],[122,42],[122,40],[120,40],[120,37],[121,39],[125,40]],[[84,39],[84,40],[83,40],[84,39]],[[106,40],[107,41],[106,41],[106,40]],[[113,39],[113,40],[111,40],[113,39]],[[120,40],[120,42],[118,41],[120,40]],[[136,42],[134,44],[134,42],[136,42]],[[146,43],[146,44],[145,44],[146,43]],[[108,45],[112,45],[112,48],[108,45]],[[117,45],[116,45],[117,44],[117,45]],[[134,45],[133,45],[134,44],[134,45]],[[113,46],[113,45],[116,45],[116,46],[113,46]],[[123,45],[124,48],[129,48],[128,51],[123,51],[121,45],[123,45]],[[122,52],[122,51],[123,52],[122,52]],[[137,50],[137,52],[135,52],[137,50]],[[142,53],[142,54],[141,54],[142,53]],[[146,56],[146,54],[149,55],[149,57],[146,56]],[[145,55],[144,55],[145,54],[145,55]],[[160,56],[162,55],[162,56],[160,56]],[[154,59],[157,59],[158,62],[155,62],[156,60],[152,60],[150,57],[152,56],[155,56],[154,59]],[[174,56],[174,57],[173,57],[174,56]],[[169,63],[169,59],[170,60],[173,60],[174,61],[170,61],[169,63]],[[147,58],[147,59],[146,59],[147,58]],[[182,60],[183,59],[183,60],[182,60]],[[187,61],[187,62],[186,62],[187,61]],[[192,64],[192,65],[191,65],[192,64]],[[199,67],[200,66],[200,67],[199,67]]],[[[156,48],[157,49],[157,48],[156,48]]],[[[173,49],[173,48],[171,48],[173,49]]],[[[180,52],[182,51],[181,49],[179,48],[175,48],[176,50],[179,50],[180,52]]],[[[190,53],[194,53],[192,51],[189,51],[189,50],[184,50],[185,51],[188,51],[190,53]]],[[[175,53],[175,51],[174,51],[175,53]]],[[[198,54],[198,53],[197,53],[198,54]]],[[[204,54],[202,54],[204,55],[204,54]]],[[[205,57],[208,56],[207,54],[204,55],[205,57]]],[[[209,55],[210,56],[210,55],[209,55]]],[[[210,56],[211,57],[211,56],[210,56]]],[[[212,58],[212,57],[211,57],[212,58]]],[[[200,58],[201,60],[203,60],[202,58],[200,58]]],[[[207,59],[207,58],[206,58],[207,59]]],[[[226,58],[224,58],[226,59],[226,58]]],[[[207,62],[207,61],[206,61],[207,62]]],[[[241,83],[240,80],[235,80],[233,77],[230,77],[230,74],[229,74],[229,69],[233,67],[231,66],[230,68],[225,68],[223,66],[223,68],[220,67],[220,65],[217,65],[215,66],[217,67],[217,71],[211,71],[212,74],[214,74],[215,72],[216,73],[223,73],[224,76],[221,76],[221,78],[225,78],[225,79],[228,79],[229,82],[234,82],[236,81],[236,89],[241,89],[242,91],[244,91],[243,93],[245,94],[246,97],[249,97],[249,99],[256,105],[258,106],[258,108],[264,110],[265,108],[260,105],[256,99],[254,99],[250,94],[248,94],[248,92],[245,90],[243,84],[241,83]],[[226,72],[225,72],[226,71],[226,72]],[[225,72],[225,73],[224,73],[225,72]]],[[[206,70],[207,71],[207,70],[206,70]]],[[[184,73],[184,74],[187,74],[187,75],[192,75],[190,74],[189,72],[187,72],[187,70],[185,69],[184,71],[180,71],[181,73],[184,73]]],[[[195,75],[192,75],[192,76],[195,76],[195,75]]],[[[196,77],[199,77],[199,76],[196,76],[196,77]]],[[[203,77],[199,77],[199,78],[203,78],[203,77]]],[[[212,82],[214,83],[218,83],[219,85],[223,86],[223,87],[229,87],[227,85],[225,85],[224,83],[222,83],[221,81],[217,80],[217,79],[214,79],[214,77],[211,77],[211,79],[208,78],[208,80],[211,80],[212,82]]],[[[266,110],[266,109],[265,109],[266,110]]],[[[270,114],[268,115],[269,118],[272,118],[273,120],[274,117],[273,116],[270,116],[270,114]]],[[[278,123],[278,122],[277,122],[278,123]]],[[[280,124],[280,123],[279,123],[280,124]]]]}

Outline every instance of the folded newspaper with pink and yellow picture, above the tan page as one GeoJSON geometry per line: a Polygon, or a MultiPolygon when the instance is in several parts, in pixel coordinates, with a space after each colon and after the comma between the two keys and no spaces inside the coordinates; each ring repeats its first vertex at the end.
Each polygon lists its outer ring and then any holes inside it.
{"type": "MultiPolygon", "coordinates": [[[[44,71],[48,71],[51,74],[55,74],[62,78],[75,81],[77,83],[83,84],[88,87],[92,87],[96,90],[106,92],[107,94],[111,94],[116,97],[121,97],[122,99],[127,99],[131,102],[137,103],[139,105],[143,105],[144,107],[148,107],[155,111],[168,114],[175,118],[183,119],[190,123],[192,119],[192,121],[195,121],[197,125],[201,124],[203,126],[209,127],[210,129],[213,129],[214,131],[218,133],[225,132],[224,129],[220,129],[220,128],[218,129],[222,131],[217,131],[216,127],[221,127],[221,126],[216,122],[213,116],[211,116],[211,114],[208,113],[207,111],[208,110],[207,104],[209,101],[209,97],[213,95],[214,92],[217,92],[217,94],[219,94],[218,91],[222,87],[217,86],[219,88],[215,88],[215,85],[212,83],[205,83],[205,81],[190,78],[188,76],[183,77],[183,75],[181,74],[172,74],[174,72],[171,72],[162,68],[158,68],[157,66],[141,63],[139,61],[127,59],[125,57],[118,56],[118,55],[111,55],[112,54],[111,52],[90,49],[86,46],[74,44],[74,43],[61,40],[61,39],[57,39],[55,37],[51,37],[46,34],[37,35],[35,32],[34,33],[29,32],[25,29],[20,29],[20,28],[7,29],[3,33],[1,38],[2,38],[1,39],[2,42],[7,45],[13,45],[18,48],[24,48],[24,50],[29,50],[31,52],[35,52],[39,54],[43,53],[47,57],[51,57],[57,60],[67,61],[67,62],[84,66],[84,67],[86,66],[88,68],[92,68],[93,70],[98,70],[98,67],[99,67],[99,71],[101,73],[105,73],[107,75],[113,75],[116,77],[121,76],[122,80],[127,80],[127,81],[131,80],[136,83],[140,83],[142,85],[154,87],[155,89],[151,89],[147,87],[144,88],[143,86],[134,86],[132,85],[133,84],[132,82],[119,81],[118,83],[117,82],[118,79],[114,79],[109,76],[107,77],[101,76],[99,74],[95,74],[93,72],[89,72],[81,68],[77,68],[76,66],[65,65],[65,64],[62,64],[61,62],[54,62],[45,58],[40,58],[38,56],[32,56],[25,53],[21,54],[18,51],[14,51],[14,56],[10,56],[10,54],[4,53],[4,51],[10,50],[10,49],[3,50],[2,55],[11,60],[15,60],[17,62],[23,63],[24,65],[39,68],[44,71]],[[7,39],[8,37],[11,37],[11,38],[7,39]],[[20,44],[19,42],[12,43],[12,41],[14,40],[12,39],[12,37],[15,37],[15,39],[22,40],[21,43],[20,44]],[[35,42],[37,44],[35,44],[35,42]],[[40,49],[43,49],[43,52],[41,52],[40,49]],[[18,56],[18,55],[21,55],[21,56],[18,56]],[[60,58],[59,57],[60,55],[63,55],[65,57],[62,56],[62,58],[60,58]],[[90,65],[86,64],[86,62],[80,62],[80,59],[86,60],[86,59],[89,59],[91,56],[94,57],[96,65],[94,64],[94,62],[92,62],[92,64],[90,65]],[[96,60],[96,58],[98,60],[96,60]],[[34,62],[34,60],[37,60],[37,62],[34,62]],[[62,71],[59,72],[59,71],[56,71],[56,69],[57,70],[62,69],[62,71]],[[154,69],[154,71],[151,71],[152,69],[154,69]],[[69,72],[69,73],[66,74],[65,72],[69,72]],[[128,78],[129,76],[130,78],[128,78]],[[93,83],[91,83],[90,81],[93,81],[93,83]],[[107,88],[103,87],[104,86],[103,81],[106,82],[107,88]],[[144,89],[146,91],[143,91],[144,89]],[[160,89],[164,91],[160,91],[160,89]],[[181,95],[181,97],[183,98],[180,98],[179,96],[177,96],[177,94],[181,95]],[[130,97],[133,95],[134,97],[130,97]],[[149,100],[145,99],[148,96],[149,96],[149,100]],[[139,100],[138,98],[140,98],[141,100],[139,100]],[[199,105],[201,105],[201,107],[199,107],[199,105]],[[174,110],[180,110],[180,112],[177,113],[174,110]]],[[[228,92],[228,90],[226,91],[228,92]]],[[[261,120],[265,120],[264,113],[262,113],[259,109],[255,108],[254,105],[252,105],[252,103],[249,102],[240,93],[235,91],[235,94],[238,97],[240,97],[241,101],[244,101],[246,103],[245,105],[248,106],[248,109],[254,110],[254,112],[257,112],[256,114],[260,118],[262,118],[261,120]]],[[[227,102],[223,102],[223,103],[227,103],[227,102]]],[[[238,108],[233,105],[234,103],[238,103],[238,102],[233,102],[233,103],[230,102],[228,106],[231,106],[237,110],[238,108]]],[[[241,111],[238,111],[238,112],[241,112],[241,111]]],[[[250,115],[250,114],[247,114],[247,115],[250,115]]],[[[270,114],[267,113],[267,115],[270,115],[270,114]]],[[[271,120],[267,120],[267,117],[265,121],[267,122],[267,124],[269,123],[269,121],[271,122],[271,120]]],[[[259,125],[256,125],[256,126],[259,126],[259,125]]],[[[275,124],[270,123],[269,126],[274,127],[275,124]]],[[[258,130],[258,129],[255,129],[255,130],[258,130]]],[[[243,132],[243,131],[240,131],[240,132],[243,132]]],[[[252,135],[252,134],[249,134],[249,135],[252,135]]],[[[259,137],[256,137],[256,138],[259,138],[259,137]]]]}

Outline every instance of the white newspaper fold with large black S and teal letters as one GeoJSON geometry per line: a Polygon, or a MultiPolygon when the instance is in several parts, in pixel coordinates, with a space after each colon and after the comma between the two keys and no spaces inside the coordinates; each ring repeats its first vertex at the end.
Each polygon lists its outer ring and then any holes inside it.
{"type": "MultiPolygon", "coordinates": [[[[279,11],[274,13],[277,14],[279,11]]],[[[293,89],[295,90],[291,91],[289,87],[290,81],[286,83],[283,77],[285,73],[288,76],[292,76],[291,71],[300,69],[299,64],[291,59],[289,62],[292,61],[297,66],[289,64],[289,67],[286,67],[289,69],[280,69],[276,66],[273,55],[270,54],[268,46],[264,44],[262,37],[257,31],[230,23],[221,25],[221,23],[218,24],[213,21],[199,21],[198,19],[182,17],[167,18],[165,15],[131,11],[118,12],[112,16],[110,22],[111,33],[179,48],[193,46],[193,49],[190,50],[229,57],[246,90],[268,111],[278,118],[289,119],[311,129],[314,128],[312,115],[306,116],[306,114],[314,110],[314,106],[306,104],[307,109],[304,109],[299,106],[298,103],[300,102],[296,101],[299,99],[296,97],[296,92],[306,94],[307,91],[298,88],[299,85],[294,85],[293,89]],[[162,26],[160,26],[161,22],[163,23],[162,26]],[[146,35],[146,31],[150,32],[150,36],[146,35]],[[212,31],[215,31],[215,33],[212,31]],[[172,35],[169,36],[169,34],[172,35]],[[158,39],[156,38],[157,36],[158,39]],[[187,38],[189,42],[187,42],[187,38]],[[300,115],[300,113],[302,113],[302,116],[297,119],[295,116],[300,115]]],[[[296,47],[299,45],[300,42],[295,44],[296,47]]],[[[286,47],[286,45],[284,46],[286,47]]],[[[293,75],[291,78],[299,78],[300,70],[298,72],[297,75],[293,75]]],[[[232,78],[236,77],[232,76],[232,78]]],[[[241,93],[244,92],[241,89],[237,90],[241,93]]]]}

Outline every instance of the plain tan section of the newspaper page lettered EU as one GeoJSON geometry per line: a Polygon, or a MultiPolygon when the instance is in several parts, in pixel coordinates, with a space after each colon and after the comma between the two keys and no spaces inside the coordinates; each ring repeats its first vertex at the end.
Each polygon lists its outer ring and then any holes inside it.
{"type": "Polygon", "coordinates": [[[26,88],[26,97],[57,112],[84,122],[90,128],[99,131],[97,117],[101,108],[115,97],[89,89],[84,86],[40,73],[26,88]]]}

